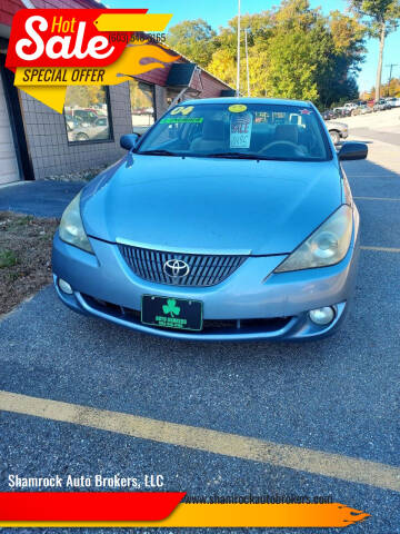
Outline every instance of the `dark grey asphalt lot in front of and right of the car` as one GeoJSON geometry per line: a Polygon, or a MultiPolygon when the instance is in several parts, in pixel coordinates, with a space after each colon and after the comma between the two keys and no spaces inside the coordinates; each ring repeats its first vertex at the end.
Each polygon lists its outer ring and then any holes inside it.
{"type": "MultiPolygon", "coordinates": [[[[366,139],[370,159],[344,166],[363,248],[354,304],[334,337],[307,344],[157,338],[76,315],[47,287],[0,322],[0,389],[399,467],[400,144],[366,139]]],[[[0,491],[9,491],[10,473],[162,474],[164,490],[191,496],[330,495],[371,514],[348,532],[400,533],[399,493],[360,484],[351,469],[342,479],[238,458],[234,449],[214,454],[14,412],[0,412],[0,491]]]]}

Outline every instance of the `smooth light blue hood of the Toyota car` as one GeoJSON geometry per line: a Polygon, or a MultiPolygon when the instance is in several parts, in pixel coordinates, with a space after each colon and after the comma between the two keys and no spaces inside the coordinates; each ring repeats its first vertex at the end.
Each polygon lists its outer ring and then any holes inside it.
{"type": "Polygon", "coordinates": [[[89,236],[170,251],[286,254],[341,204],[336,160],[129,154],[83,190],[89,236]]]}

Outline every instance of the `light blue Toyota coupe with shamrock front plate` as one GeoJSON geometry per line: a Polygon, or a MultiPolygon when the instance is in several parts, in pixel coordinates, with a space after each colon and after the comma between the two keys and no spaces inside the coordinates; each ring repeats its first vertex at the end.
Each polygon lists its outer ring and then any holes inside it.
{"type": "Polygon", "coordinates": [[[334,332],[357,276],[359,214],[310,102],[219,98],[169,110],[88,184],[54,236],[76,312],[197,340],[334,332]]]}

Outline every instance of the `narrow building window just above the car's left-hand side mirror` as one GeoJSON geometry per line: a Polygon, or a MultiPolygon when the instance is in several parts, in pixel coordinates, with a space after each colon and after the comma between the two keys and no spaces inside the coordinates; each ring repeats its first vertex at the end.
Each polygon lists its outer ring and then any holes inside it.
{"type": "Polygon", "coordinates": [[[132,79],[129,81],[129,92],[133,131],[143,134],[156,120],[154,86],[132,79]]]}

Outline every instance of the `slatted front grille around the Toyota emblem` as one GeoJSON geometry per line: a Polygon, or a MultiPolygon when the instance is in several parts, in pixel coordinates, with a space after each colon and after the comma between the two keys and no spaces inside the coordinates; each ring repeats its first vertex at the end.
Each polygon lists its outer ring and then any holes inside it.
{"type": "Polygon", "coordinates": [[[140,278],[158,284],[174,286],[214,286],[230,276],[246,256],[209,256],[200,254],[176,254],[119,245],[120,253],[133,273],[140,278]],[[184,261],[187,276],[167,275],[164,264],[169,260],[184,261]]]}

